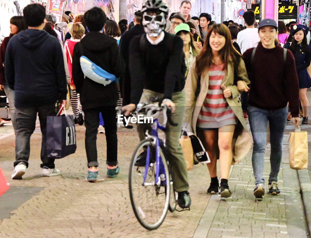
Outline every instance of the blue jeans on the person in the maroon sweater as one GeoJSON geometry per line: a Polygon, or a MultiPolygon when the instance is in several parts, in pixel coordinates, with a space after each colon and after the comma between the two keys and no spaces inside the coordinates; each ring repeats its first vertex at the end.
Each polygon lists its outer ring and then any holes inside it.
{"type": "Polygon", "coordinates": [[[271,172],[269,182],[277,182],[282,162],[282,141],[287,115],[287,106],[278,110],[263,110],[254,106],[249,106],[248,108],[248,119],[254,140],[252,163],[256,180],[255,184],[265,182],[263,169],[265,164],[264,154],[267,143],[268,121],[270,125],[271,144],[271,172]]]}

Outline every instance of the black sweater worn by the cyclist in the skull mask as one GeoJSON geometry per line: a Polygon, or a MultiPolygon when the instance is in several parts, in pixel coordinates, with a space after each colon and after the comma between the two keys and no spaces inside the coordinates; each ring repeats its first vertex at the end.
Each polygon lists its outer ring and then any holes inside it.
{"type": "Polygon", "coordinates": [[[146,49],[140,47],[141,36],[132,39],[130,45],[131,103],[137,104],[142,90],[149,89],[172,99],[173,92],[180,92],[185,86],[183,40],[175,35],[169,52],[169,33],[165,32],[163,41],[152,45],[144,35],[146,49]]]}

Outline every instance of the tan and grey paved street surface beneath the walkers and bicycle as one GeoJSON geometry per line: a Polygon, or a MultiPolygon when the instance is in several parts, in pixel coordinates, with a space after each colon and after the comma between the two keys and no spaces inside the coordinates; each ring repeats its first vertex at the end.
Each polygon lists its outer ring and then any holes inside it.
{"type": "MultiPolygon", "coordinates": [[[[41,134],[31,137],[30,164],[23,180],[11,180],[14,161],[14,136],[7,124],[0,128],[0,167],[10,186],[44,187],[37,195],[0,221],[0,237],[304,237],[297,177],[289,169],[284,145],[284,161],[279,177],[281,195],[265,195],[263,201],[253,196],[254,178],[251,152],[231,168],[229,180],[232,197],[220,200],[208,195],[210,183],[206,166],[195,165],[189,171],[191,211],[168,213],[155,231],[146,231],[136,220],[129,200],[128,168],[132,151],[138,143],[136,130],[118,129],[118,159],[121,173],[103,182],[85,182],[87,174],[84,126],[77,126],[77,151],[56,160],[61,176],[40,176],[41,134]],[[285,171],[285,172],[284,172],[285,171]],[[298,233],[297,233],[298,232],[298,233]],[[299,233],[300,232],[300,233],[299,233]]],[[[286,138],[285,138],[286,141],[286,138]]],[[[105,135],[98,134],[100,176],[106,173],[105,135]]],[[[269,175],[266,152],[265,178],[269,175]]],[[[266,182],[267,185],[267,182],[266,182]]],[[[14,197],[12,197],[14,199],[14,197]]],[[[2,201],[0,197],[0,205],[2,201]]]]}

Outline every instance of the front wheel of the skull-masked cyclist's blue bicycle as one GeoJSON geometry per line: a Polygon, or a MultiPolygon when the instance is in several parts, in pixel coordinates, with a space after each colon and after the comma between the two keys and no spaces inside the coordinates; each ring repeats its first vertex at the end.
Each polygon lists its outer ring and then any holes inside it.
{"type": "MultiPolygon", "coordinates": [[[[133,211],[138,222],[148,230],[155,230],[165,219],[167,210],[169,207],[169,197],[170,197],[170,182],[169,182],[169,170],[165,161],[163,151],[160,149],[160,157],[162,158],[166,183],[161,182],[161,185],[155,185],[155,176],[156,176],[156,164],[151,163],[148,167],[147,177],[145,183],[148,185],[143,186],[144,173],[146,167],[135,166],[138,155],[140,155],[144,149],[143,147],[151,146],[154,149],[153,155],[150,153],[150,157],[154,156],[155,158],[155,147],[151,144],[150,140],[143,140],[137,146],[136,150],[133,153],[130,171],[129,171],[129,191],[130,199],[133,211]],[[165,191],[168,191],[166,193],[165,191]]],[[[160,174],[159,174],[160,177],[160,174]]],[[[160,179],[160,178],[159,178],[160,179]]]]}

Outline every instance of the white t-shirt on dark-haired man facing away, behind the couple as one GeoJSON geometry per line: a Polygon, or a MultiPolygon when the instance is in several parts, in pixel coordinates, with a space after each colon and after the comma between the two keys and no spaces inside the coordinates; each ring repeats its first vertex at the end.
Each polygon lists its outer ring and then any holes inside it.
{"type": "Polygon", "coordinates": [[[242,54],[250,48],[257,47],[259,41],[257,28],[246,28],[240,31],[236,39],[242,54]]]}

